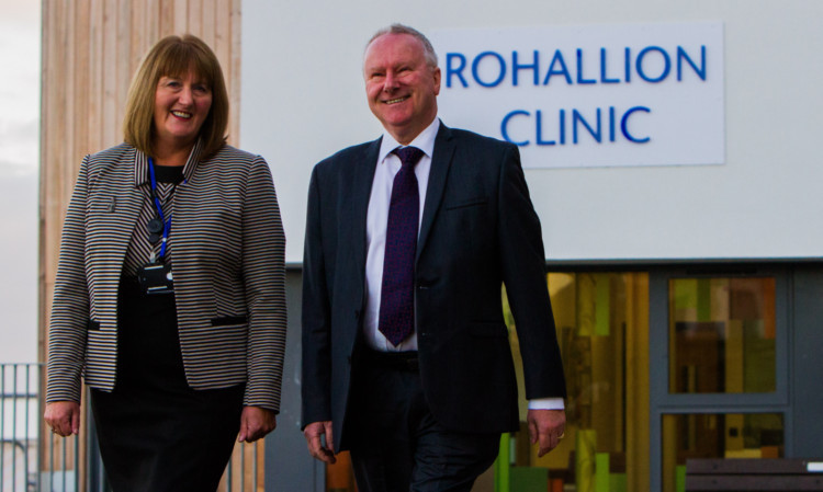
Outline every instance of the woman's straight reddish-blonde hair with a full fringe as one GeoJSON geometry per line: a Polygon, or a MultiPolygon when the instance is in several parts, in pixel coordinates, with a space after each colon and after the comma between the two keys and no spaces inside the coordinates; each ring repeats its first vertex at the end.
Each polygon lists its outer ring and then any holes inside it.
{"type": "Polygon", "coordinates": [[[200,128],[205,159],[226,144],[228,93],[219,61],[214,52],[199,37],[185,34],[167,36],[148,52],[132,79],[123,122],[123,137],[142,152],[154,156],[155,93],[160,77],[183,77],[189,71],[212,91],[212,107],[200,128]]]}

